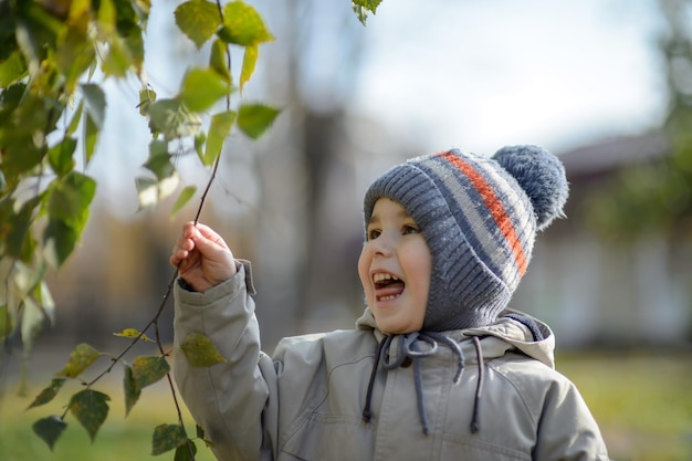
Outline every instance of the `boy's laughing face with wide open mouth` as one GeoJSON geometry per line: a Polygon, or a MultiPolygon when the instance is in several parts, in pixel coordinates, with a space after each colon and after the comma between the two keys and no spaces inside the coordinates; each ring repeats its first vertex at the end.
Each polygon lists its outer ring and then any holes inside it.
{"type": "Polygon", "coordinates": [[[396,201],[377,200],[358,260],[358,275],[381,332],[420,331],[431,271],[430,249],[413,219],[396,201]]]}

